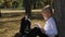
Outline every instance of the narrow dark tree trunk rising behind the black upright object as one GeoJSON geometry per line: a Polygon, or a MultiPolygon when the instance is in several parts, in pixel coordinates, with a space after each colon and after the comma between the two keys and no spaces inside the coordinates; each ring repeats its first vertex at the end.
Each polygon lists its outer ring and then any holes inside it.
{"type": "Polygon", "coordinates": [[[31,18],[31,7],[30,7],[30,0],[24,0],[24,7],[26,14],[29,18],[31,18]]]}

